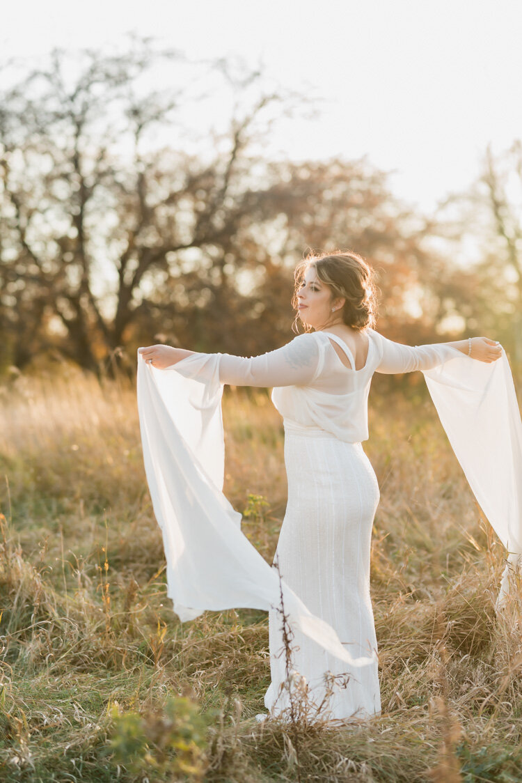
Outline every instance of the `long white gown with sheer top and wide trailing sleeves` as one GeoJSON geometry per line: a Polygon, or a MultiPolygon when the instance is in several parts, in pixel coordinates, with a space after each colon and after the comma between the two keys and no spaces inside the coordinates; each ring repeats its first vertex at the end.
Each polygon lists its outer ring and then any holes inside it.
{"type": "Polygon", "coordinates": [[[511,562],[520,564],[522,424],[505,353],[487,364],[445,344],[412,347],[373,329],[366,334],[360,370],[346,343],[326,331],[298,335],[251,358],[196,353],[167,371],[138,354],[143,452],[164,535],[168,595],[182,620],[205,609],[268,609],[272,681],[265,706],[274,715],[288,706],[280,587],[293,633],[293,669],[306,678],[312,707],[322,702],[329,672],[338,676],[331,718],[380,712],[369,591],[380,491],[362,447],[374,372],[423,371],[477,500],[511,562]],[[351,366],[341,362],[333,342],[351,366]],[[288,503],[275,553],[282,583],[240,532],[240,515],[221,493],[223,384],[272,387],[283,417],[288,503]],[[472,442],[477,428],[485,431],[479,453],[472,442]]]}

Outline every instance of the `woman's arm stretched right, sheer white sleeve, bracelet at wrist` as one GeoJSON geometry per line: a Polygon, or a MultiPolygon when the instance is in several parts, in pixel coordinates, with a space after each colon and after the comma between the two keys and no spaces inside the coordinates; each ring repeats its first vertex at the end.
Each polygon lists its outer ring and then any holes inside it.
{"type": "MultiPolygon", "coordinates": [[[[383,356],[376,367],[378,373],[412,373],[414,370],[431,370],[448,359],[458,355],[459,351],[469,355],[470,342],[455,340],[431,345],[402,345],[388,340],[380,334],[383,356]]],[[[471,337],[471,359],[481,362],[495,362],[502,355],[502,347],[488,337],[471,337]]]]}

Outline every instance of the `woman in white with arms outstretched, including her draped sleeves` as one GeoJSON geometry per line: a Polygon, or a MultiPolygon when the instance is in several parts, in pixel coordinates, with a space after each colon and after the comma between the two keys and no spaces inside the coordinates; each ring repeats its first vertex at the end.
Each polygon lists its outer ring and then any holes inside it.
{"type": "MultiPolygon", "coordinates": [[[[374,329],[373,270],[354,252],[311,254],[305,258],[295,270],[292,304],[296,323],[301,320],[304,333],[264,355],[245,358],[202,354],[167,345],[139,348],[139,413],[146,474],[164,534],[168,594],[175,612],[184,620],[205,609],[267,608],[272,681],[265,694],[265,706],[272,715],[283,713],[290,697],[288,688],[283,687],[288,669],[282,655],[284,628],[275,602],[278,591],[254,553],[247,551],[246,547],[251,546],[240,533],[239,514],[221,494],[223,453],[219,422],[223,384],[273,388],[272,402],[283,417],[285,431],[288,502],[272,571],[276,566],[284,581],[290,615],[296,621],[292,626],[292,666],[304,677],[301,681],[308,684],[312,705],[317,707],[325,698],[328,672],[339,684],[333,693],[331,687],[329,691],[332,718],[367,717],[380,712],[369,586],[370,539],[380,490],[362,446],[369,437],[367,401],[373,373],[425,373],[473,492],[479,502],[485,503],[484,512],[492,525],[496,523],[503,543],[517,549],[518,556],[520,530],[513,528],[517,521],[509,531],[501,531],[509,521],[505,517],[502,523],[497,521],[502,516],[496,510],[498,503],[495,507],[495,502],[488,505],[483,500],[480,493],[485,476],[474,470],[473,448],[469,444],[473,425],[478,421],[480,406],[474,392],[479,387],[484,392],[481,415],[488,415],[488,410],[495,410],[495,416],[502,414],[497,393],[488,391],[492,388],[493,369],[487,370],[488,377],[480,372],[473,375],[473,367],[478,364],[497,363],[502,358],[502,347],[488,337],[414,347],[383,337],[374,329]],[[150,368],[148,373],[145,366],[150,368]],[[170,376],[170,381],[160,375],[170,376]],[[462,399],[462,410],[455,411],[449,395],[467,392],[469,397],[462,399]],[[492,397],[488,399],[486,392],[492,397]],[[153,409],[162,411],[157,420],[153,420],[153,409]],[[168,416],[164,410],[168,410],[168,416]],[[466,415],[470,417],[467,420],[466,415]],[[452,421],[452,417],[459,422],[452,421]],[[166,428],[172,422],[175,427],[167,437],[166,428]],[[454,424],[463,422],[467,423],[467,430],[459,435],[454,424]],[[175,453],[174,449],[182,450],[175,453]],[[191,460],[198,467],[193,474],[187,472],[191,460]],[[196,489],[197,482],[200,489],[196,489]],[[197,506],[196,498],[202,488],[205,492],[211,488],[212,493],[197,506]],[[189,491],[191,500],[183,508],[181,503],[189,491]],[[226,522],[218,523],[224,509],[229,516],[226,522]],[[229,525],[231,518],[234,525],[229,525]],[[238,536],[244,540],[239,541],[238,536]],[[236,556],[236,547],[243,547],[241,557],[236,556]],[[242,570],[250,557],[252,565],[242,570]],[[291,603],[294,597],[300,608],[291,603]],[[304,622],[304,613],[308,624],[304,622]],[[312,619],[319,623],[313,632],[312,619]],[[333,630],[333,641],[329,630],[333,630]]],[[[505,365],[509,370],[507,361],[505,365]]],[[[500,373],[495,377],[499,378],[500,373]]],[[[502,376],[499,383],[509,381],[502,376]]],[[[508,394],[509,402],[504,404],[509,407],[513,427],[518,428],[514,389],[513,395],[511,388],[508,394]]],[[[492,436],[502,437],[499,427],[492,436]]],[[[519,429],[517,433],[520,435],[519,429]]],[[[484,469],[489,467],[486,460],[484,469]]],[[[511,496],[517,493],[517,467],[513,457],[513,464],[508,465],[510,478],[506,479],[511,483],[499,491],[507,491],[511,496]]],[[[517,497],[520,500],[520,495],[517,497]]]]}

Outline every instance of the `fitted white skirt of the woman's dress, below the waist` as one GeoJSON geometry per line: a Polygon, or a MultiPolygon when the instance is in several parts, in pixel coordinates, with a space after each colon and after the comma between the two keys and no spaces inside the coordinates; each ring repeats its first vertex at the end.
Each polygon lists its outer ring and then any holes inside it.
{"type": "MultiPolygon", "coordinates": [[[[380,500],[375,471],[362,443],[283,423],[288,503],[272,567],[279,564],[280,576],[313,614],[337,631],[351,655],[371,655],[377,650],[369,592],[373,518],[380,500]]],[[[380,712],[376,662],[350,668],[295,630],[289,666],[283,616],[277,609],[268,612],[268,633],[272,682],[265,707],[272,715],[290,705],[283,685],[292,672],[301,675],[301,684],[302,677],[308,683],[312,720],[318,715],[346,720],[380,712]]]]}

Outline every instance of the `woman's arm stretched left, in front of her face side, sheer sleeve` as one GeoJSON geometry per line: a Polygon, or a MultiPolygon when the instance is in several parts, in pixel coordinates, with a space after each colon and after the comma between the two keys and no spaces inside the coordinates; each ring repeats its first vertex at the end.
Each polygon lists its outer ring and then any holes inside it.
{"type": "MultiPolygon", "coordinates": [[[[153,359],[158,369],[175,366],[191,355],[205,355],[167,345],[140,348],[139,352],[144,359],[153,359]]],[[[250,359],[229,353],[215,355],[219,357],[219,381],[234,386],[304,386],[319,370],[319,343],[312,334],[298,334],[282,348],[250,359]]],[[[183,372],[182,366],[179,370],[183,372]]]]}

